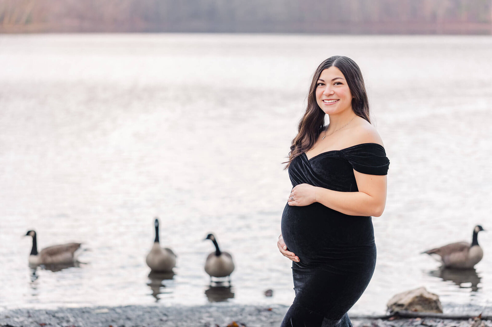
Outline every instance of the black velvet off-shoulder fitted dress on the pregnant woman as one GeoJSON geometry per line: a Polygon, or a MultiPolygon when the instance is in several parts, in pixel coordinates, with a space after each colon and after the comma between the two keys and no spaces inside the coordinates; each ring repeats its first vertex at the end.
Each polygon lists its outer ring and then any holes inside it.
{"type": "MultiPolygon", "coordinates": [[[[309,160],[302,154],[290,164],[289,177],[293,187],[307,183],[356,192],[354,169],[386,175],[389,164],[381,145],[363,143],[309,160]]],[[[281,326],[352,326],[347,311],[368,286],[376,264],[371,218],[345,215],[319,202],[286,204],[282,235],[300,262],[292,262],[296,297],[281,326]]]]}

